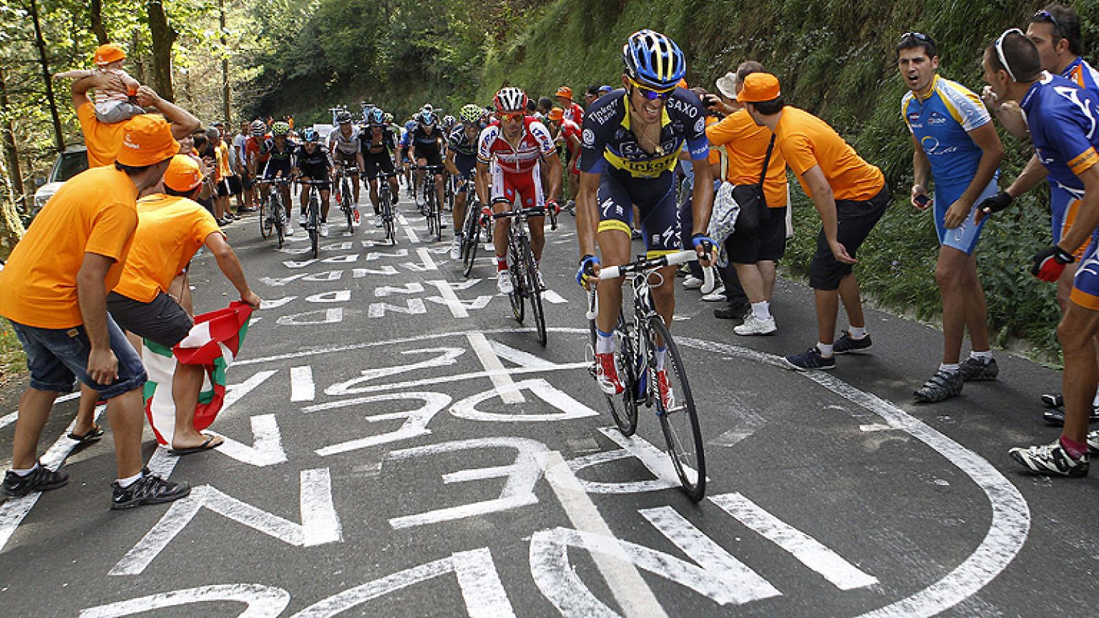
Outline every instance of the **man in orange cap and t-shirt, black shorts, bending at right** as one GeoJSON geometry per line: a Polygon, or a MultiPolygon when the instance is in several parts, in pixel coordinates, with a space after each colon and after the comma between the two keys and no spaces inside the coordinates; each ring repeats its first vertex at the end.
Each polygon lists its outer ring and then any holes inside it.
{"type": "Polygon", "coordinates": [[[817,254],[809,265],[820,338],[808,351],[786,357],[786,362],[798,370],[832,369],[833,353],[870,347],[852,267],[859,245],[889,205],[889,189],[881,170],[864,161],[835,130],[809,112],[786,105],[775,76],[747,76],[736,100],[756,124],[775,133],[775,149],[786,158],[821,216],[817,254]],[[841,297],[851,328],[833,344],[841,297]]]}

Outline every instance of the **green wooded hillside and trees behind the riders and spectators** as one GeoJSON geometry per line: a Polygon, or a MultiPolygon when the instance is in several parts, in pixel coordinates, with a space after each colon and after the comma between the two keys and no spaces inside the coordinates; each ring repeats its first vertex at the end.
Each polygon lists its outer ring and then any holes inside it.
{"type": "MultiPolygon", "coordinates": [[[[1099,0],[1069,2],[1084,47],[1099,46],[1099,0]]],[[[532,95],[563,83],[619,82],[620,49],[640,27],[684,48],[688,81],[748,58],[778,75],[787,100],[821,115],[881,167],[898,200],[861,251],[864,289],[879,305],[934,321],[937,255],[926,213],[907,204],[911,144],[899,116],[903,86],[893,45],[918,30],[940,45],[941,72],[979,90],[983,48],[1025,27],[1041,4],[1014,0],[0,0],[0,182],[5,209],[25,214],[34,179],[58,149],[80,142],[68,85],[48,72],[90,66],[103,41],[127,49],[131,75],[204,122],[293,115],[370,101],[406,116],[424,102],[487,103],[507,82],[532,95]]],[[[1089,60],[1097,55],[1086,53],[1089,60]]],[[[1025,144],[1002,134],[1002,173],[1014,178],[1025,144]]],[[[795,191],[796,238],[784,260],[799,274],[812,252],[812,206],[795,191]]],[[[1044,190],[986,227],[978,260],[998,344],[1025,341],[1055,360],[1054,290],[1025,273],[1048,239],[1044,190]]],[[[12,241],[7,224],[0,229],[12,241]]]]}

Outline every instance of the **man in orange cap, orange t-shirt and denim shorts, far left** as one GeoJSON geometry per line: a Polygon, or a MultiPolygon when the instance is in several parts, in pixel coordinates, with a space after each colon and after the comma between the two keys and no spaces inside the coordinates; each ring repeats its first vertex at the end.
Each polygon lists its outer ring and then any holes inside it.
{"type": "Polygon", "coordinates": [[[3,481],[12,496],[55,490],[68,472],[37,462],[38,439],[54,400],[73,382],[99,391],[114,435],[116,479],[111,508],[171,502],[186,483],[143,470],[145,370],[122,329],[106,311],[137,226],[136,196],[160,182],[179,150],[164,119],[142,114],[122,125],[115,165],[77,175],[46,203],[0,271],[0,315],[26,352],[31,384],[20,398],[12,469],[3,481]]]}

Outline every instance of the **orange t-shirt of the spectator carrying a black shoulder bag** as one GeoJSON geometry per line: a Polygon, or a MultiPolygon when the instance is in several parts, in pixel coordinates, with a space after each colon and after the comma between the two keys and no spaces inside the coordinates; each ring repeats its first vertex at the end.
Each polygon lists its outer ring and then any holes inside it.
{"type": "MultiPolygon", "coordinates": [[[[757,125],[746,110],[729,114],[718,124],[706,127],[710,144],[724,146],[729,157],[725,180],[733,184],[756,184],[770,143],[770,130],[757,125]]],[[[776,144],[777,144],[776,139],[776,144]]],[[[786,159],[778,146],[771,149],[767,176],[763,180],[767,207],[786,207],[786,159]]]]}

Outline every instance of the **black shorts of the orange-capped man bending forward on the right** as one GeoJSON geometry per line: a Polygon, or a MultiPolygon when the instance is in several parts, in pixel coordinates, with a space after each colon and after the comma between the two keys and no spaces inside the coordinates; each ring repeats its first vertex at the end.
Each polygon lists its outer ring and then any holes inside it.
{"type": "MultiPolygon", "coordinates": [[[[870,231],[886,213],[892,195],[889,187],[882,187],[877,195],[865,202],[853,200],[836,200],[836,239],[847,249],[847,255],[855,257],[858,247],[870,235],[870,231]]],[[[817,254],[809,263],[809,286],[813,290],[837,290],[840,281],[851,274],[854,265],[835,261],[832,249],[824,238],[824,231],[817,235],[817,254]]]]}

